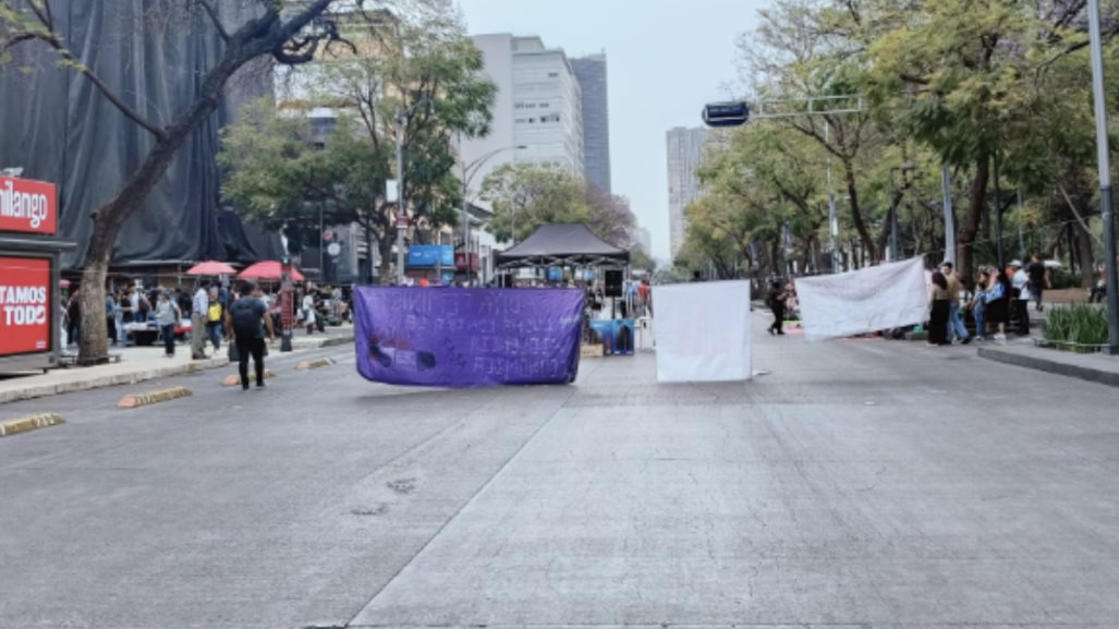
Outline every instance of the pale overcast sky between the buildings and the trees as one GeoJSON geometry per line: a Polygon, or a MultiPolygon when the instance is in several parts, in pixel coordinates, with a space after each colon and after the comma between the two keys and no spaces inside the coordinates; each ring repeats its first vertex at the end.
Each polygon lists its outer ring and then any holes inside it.
{"type": "Polygon", "coordinates": [[[609,64],[614,194],[630,198],[669,256],[665,132],[700,123],[703,103],[737,84],[735,39],[765,0],[458,0],[471,35],[538,35],[568,56],[609,64]]]}

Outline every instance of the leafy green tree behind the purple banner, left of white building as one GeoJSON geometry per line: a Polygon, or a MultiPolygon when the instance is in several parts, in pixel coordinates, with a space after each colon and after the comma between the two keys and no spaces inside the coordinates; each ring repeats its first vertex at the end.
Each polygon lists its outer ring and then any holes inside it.
{"type": "Polygon", "coordinates": [[[286,76],[281,112],[262,112],[227,133],[227,193],[246,214],[289,229],[326,204],[333,220],[365,228],[387,278],[397,208],[385,188],[398,175],[396,114],[412,112],[403,129],[404,207],[417,225],[413,238],[423,241],[458,219],[454,139],[488,132],[496,86],[480,77],[481,54],[453,17],[355,12],[340,30],[356,41],[352,48],[286,76]],[[309,143],[309,123],[294,120],[316,106],[338,119],[321,150],[309,143]],[[272,186],[275,179],[284,185],[272,186]]]}

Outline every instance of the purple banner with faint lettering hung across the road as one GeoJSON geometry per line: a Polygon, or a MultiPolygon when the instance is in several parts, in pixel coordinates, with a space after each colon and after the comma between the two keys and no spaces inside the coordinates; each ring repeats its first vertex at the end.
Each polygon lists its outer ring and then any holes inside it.
{"type": "Polygon", "coordinates": [[[583,292],[356,287],[357,369],[388,384],[566,384],[579,373],[583,292]]]}

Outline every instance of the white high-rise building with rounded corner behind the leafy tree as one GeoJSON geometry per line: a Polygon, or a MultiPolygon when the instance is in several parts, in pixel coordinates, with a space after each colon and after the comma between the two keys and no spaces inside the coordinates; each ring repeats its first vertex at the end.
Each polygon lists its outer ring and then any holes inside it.
{"type": "Polygon", "coordinates": [[[547,48],[539,37],[509,34],[473,40],[497,97],[489,135],[462,142],[471,195],[487,175],[510,162],[560,166],[582,175],[582,91],[563,49],[547,48]]]}

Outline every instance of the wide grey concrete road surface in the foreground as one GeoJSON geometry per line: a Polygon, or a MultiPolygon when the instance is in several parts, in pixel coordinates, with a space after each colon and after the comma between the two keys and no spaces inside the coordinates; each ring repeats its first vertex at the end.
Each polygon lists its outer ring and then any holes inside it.
{"type": "Polygon", "coordinates": [[[0,627],[1119,626],[1113,388],[794,336],[724,385],[641,356],[416,392],[335,355],[0,407],[68,420],[0,440],[0,627]]]}

